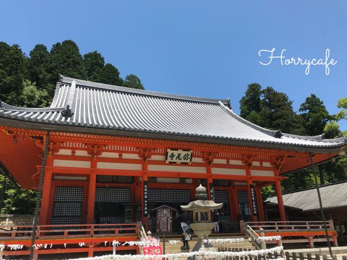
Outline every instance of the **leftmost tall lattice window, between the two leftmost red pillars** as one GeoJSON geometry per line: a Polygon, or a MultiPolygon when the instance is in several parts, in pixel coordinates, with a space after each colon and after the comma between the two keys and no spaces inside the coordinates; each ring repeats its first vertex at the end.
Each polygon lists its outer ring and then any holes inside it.
{"type": "MultiPolygon", "coordinates": [[[[81,224],[83,192],[83,187],[55,187],[51,225],[81,224]]],[[[79,228],[52,227],[53,230],[79,228]]]]}

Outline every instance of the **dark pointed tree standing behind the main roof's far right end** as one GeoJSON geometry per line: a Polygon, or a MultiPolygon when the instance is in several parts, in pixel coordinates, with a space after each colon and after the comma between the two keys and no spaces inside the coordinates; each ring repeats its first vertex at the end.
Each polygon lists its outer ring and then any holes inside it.
{"type": "Polygon", "coordinates": [[[305,134],[315,136],[324,133],[324,127],[327,122],[333,120],[335,116],[329,115],[321,101],[316,95],[311,94],[305,102],[300,105],[301,116],[304,119],[305,134]]]}

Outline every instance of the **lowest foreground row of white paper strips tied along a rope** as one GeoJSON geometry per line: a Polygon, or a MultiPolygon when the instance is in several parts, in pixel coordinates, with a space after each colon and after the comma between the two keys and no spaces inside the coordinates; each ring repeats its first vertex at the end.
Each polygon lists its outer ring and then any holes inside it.
{"type": "MultiPolygon", "coordinates": [[[[178,254],[166,254],[166,255],[107,255],[101,257],[92,258],[79,258],[74,260],[161,260],[161,259],[179,259],[179,258],[193,258],[194,256],[205,256],[205,258],[225,258],[225,257],[256,257],[264,256],[269,253],[277,252],[281,253],[282,246],[277,246],[270,249],[253,250],[253,251],[241,251],[241,252],[212,252],[212,251],[197,251],[197,252],[183,252],[178,254]]],[[[279,258],[278,260],[284,260],[279,258]]]]}

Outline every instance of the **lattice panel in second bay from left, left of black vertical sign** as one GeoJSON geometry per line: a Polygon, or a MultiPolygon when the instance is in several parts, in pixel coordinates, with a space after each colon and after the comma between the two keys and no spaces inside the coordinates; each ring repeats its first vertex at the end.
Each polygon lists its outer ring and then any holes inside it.
{"type": "Polygon", "coordinates": [[[101,188],[95,190],[95,202],[130,203],[130,188],[101,188]]]}

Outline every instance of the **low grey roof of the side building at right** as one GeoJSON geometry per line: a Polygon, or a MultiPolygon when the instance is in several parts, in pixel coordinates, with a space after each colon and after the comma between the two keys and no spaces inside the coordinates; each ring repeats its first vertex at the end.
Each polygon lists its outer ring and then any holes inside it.
{"type": "MultiPolygon", "coordinates": [[[[327,184],[319,187],[323,208],[347,206],[347,181],[327,184]]],[[[283,204],[303,211],[320,209],[316,188],[282,194],[283,204]]],[[[277,202],[277,196],[269,197],[265,202],[277,202]]]]}

